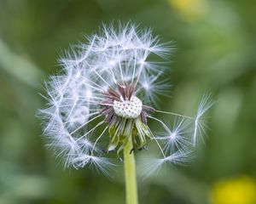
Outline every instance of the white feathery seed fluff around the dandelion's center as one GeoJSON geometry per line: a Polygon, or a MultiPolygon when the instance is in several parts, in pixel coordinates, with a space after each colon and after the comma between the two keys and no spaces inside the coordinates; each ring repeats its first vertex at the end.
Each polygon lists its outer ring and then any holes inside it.
{"type": "MultiPolygon", "coordinates": [[[[172,48],[160,44],[150,30],[139,30],[131,23],[116,28],[102,26],[100,34],[87,40],[65,54],[60,73],[45,83],[47,95],[44,98],[48,104],[40,110],[40,116],[44,119],[48,145],[57,156],[64,158],[65,167],[92,165],[109,176],[114,164],[104,150],[110,127],[102,116],[102,103],[108,105],[106,92],[109,88],[116,89],[117,84],[135,84],[134,96],[143,105],[155,106],[154,99],[165,94],[170,86],[160,80],[165,71],[163,67],[149,61],[148,56],[165,57],[172,48]]],[[[157,164],[154,168],[165,162],[187,160],[190,146],[193,146],[190,144],[196,144],[198,135],[203,132],[201,116],[210,106],[209,99],[204,98],[195,117],[154,110],[183,118],[172,127],[151,116],[154,113],[145,115],[148,120],[160,122],[164,130],[163,135],[154,135],[146,126],[163,156],[154,160],[157,164]]]]}

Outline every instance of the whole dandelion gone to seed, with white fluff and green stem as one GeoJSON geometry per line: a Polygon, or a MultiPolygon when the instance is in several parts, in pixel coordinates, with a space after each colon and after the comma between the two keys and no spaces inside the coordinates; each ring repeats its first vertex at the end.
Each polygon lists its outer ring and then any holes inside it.
{"type": "Polygon", "coordinates": [[[87,39],[65,53],[62,70],[45,83],[48,104],[40,111],[44,136],[65,167],[94,167],[109,177],[117,164],[111,153],[119,158],[123,153],[127,203],[137,203],[134,151],[146,149],[150,140],[158,146],[161,157],[148,163],[148,174],[165,163],[188,161],[204,133],[201,118],[212,103],[204,97],[193,117],[156,109],[171,86],[161,80],[165,67],[148,56],[166,58],[172,48],[151,30],[131,23],[102,26],[100,34],[87,39]],[[174,124],[155,113],[173,116],[174,124]],[[149,120],[158,122],[162,133],[154,133],[149,120]]]}

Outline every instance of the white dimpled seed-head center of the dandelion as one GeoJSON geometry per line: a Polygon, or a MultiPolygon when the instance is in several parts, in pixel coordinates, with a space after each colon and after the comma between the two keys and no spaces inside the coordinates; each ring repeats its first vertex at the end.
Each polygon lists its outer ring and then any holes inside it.
{"type": "Polygon", "coordinates": [[[141,115],[143,111],[143,103],[136,96],[131,96],[130,100],[114,100],[113,111],[120,117],[135,119],[141,115]]]}

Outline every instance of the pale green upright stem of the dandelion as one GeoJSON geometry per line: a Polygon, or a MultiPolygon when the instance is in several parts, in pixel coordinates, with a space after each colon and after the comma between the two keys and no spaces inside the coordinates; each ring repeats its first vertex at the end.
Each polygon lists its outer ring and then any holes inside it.
{"type": "Polygon", "coordinates": [[[130,137],[124,147],[126,204],[138,203],[136,167],[133,151],[131,152],[132,148],[132,138],[130,137]]]}

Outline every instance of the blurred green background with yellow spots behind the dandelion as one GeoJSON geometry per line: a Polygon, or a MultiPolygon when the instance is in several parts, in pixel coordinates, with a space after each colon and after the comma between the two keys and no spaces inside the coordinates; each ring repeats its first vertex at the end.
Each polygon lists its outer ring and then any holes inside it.
{"type": "Polygon", "coordinates": [[[102,22],[131,20],[177,47],[162,109],[189,114],[202,94],[217,100],[197,159],[139,177],[140,203],[255,204],[255,8],[249,0],[0,0],[0,203],[125,202],[122,169],[112,181],[64,170],[44,148],[35,113],[61,50],[102,22]]]}

